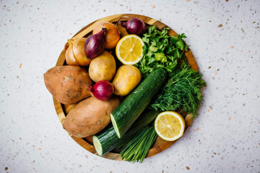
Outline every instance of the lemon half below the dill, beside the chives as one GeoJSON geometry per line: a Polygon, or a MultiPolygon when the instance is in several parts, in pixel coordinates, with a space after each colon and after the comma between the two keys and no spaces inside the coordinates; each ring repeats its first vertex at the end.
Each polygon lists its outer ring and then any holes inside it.
{"type": "Polygon", "coordinates": [[[185,128],[183,117],[174,111],[166,111],[157,115],[154,121],[154,129],[158,136],[166,141],[179,139],[185,128]]]}

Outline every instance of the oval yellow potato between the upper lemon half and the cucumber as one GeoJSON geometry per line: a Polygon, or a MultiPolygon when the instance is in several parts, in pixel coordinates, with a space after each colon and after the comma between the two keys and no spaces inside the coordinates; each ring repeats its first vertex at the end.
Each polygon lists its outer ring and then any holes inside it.
{"type": "Polygon", "coordinates": [[[141,72],[133,65],[122,65],[116,71],[112,84],[115,95],[129,94],[141,81],[141,72]]]}

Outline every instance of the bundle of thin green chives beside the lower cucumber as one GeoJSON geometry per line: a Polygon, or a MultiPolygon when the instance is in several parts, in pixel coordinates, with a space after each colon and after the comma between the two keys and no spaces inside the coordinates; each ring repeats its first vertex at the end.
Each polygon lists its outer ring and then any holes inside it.
{"type": "Polygon", "coordinates": [[[154,123],[151,123],[135,135],[126,148],[121,151],[122,159],[133,163],[140,160],[142,163],[156,138],[157,133],[154,130],[154,123]]]}

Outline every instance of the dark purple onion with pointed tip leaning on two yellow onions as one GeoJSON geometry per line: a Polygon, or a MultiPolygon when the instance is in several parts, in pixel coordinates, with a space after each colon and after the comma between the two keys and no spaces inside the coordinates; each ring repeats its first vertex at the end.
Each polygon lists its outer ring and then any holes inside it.
{"type": "Polygon", "coordinates": [[[99,56],[105,49],[104,32],[106,28],[102,28],[99,33],[89,36],[84,44],[84,50],[88,59],[93,59],[99,56]]]}

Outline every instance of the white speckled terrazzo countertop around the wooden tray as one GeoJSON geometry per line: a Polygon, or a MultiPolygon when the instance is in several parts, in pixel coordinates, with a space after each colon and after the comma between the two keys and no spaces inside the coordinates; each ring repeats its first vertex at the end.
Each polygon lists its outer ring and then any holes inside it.
{"type": "Polygon", "coordinates": [[[0,1],[0,172],[260,172],[260,1],[0,1]],[[183,137],[143,163],[89,153],[62,128],[43,73],[67,39],[133,13],[184,32],[207,87],[183,137]]]}

